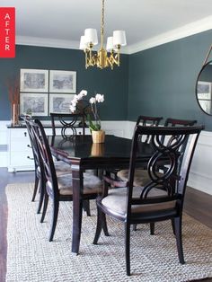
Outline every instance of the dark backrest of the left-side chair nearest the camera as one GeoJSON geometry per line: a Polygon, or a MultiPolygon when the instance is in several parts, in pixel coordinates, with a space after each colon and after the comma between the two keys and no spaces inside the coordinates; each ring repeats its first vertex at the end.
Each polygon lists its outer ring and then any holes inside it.
{"type": "Polygon", "coordinates": [[[45,130],[39,119],[29,121],[31,133],[35,139],[36,145],[40,153],[42,169],[47,181],[46,189],[49,195],[54,195],[55,198],[59,197],[57,174],[53,157],[49,147],[49,141],[46,136],[45,130]]]}

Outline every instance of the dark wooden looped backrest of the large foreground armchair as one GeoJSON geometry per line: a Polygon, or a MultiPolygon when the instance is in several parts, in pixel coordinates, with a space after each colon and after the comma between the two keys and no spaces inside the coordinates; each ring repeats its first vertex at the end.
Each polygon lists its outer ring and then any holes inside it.
{"type": "MultiPolygon", "coordinates": [[[[203,128],[202,126],[177,128],[137,126],[135,128],[128,177],[129,216],[133,205],[163,204],[173,201],[176,202],[175,207],[181,212],[190,163],[200,131],[203,128]],[[145,144],[139,142],[139,136],[142,135],[151,137],[153,150],[147,162],[149,182],[144,188],[139,189],[139,196],[133,198],[133,189],[137,189],[133,187],[135,168],[137,162],[139,162],[139,154],[142,154],[142,145],[145,146],[145,144]],[[190,142],[188,142],[189,137],[190,142]],[[161,163],[168,164],[168,169],[163,173],[158,172],[161,163]],[[163,195],[154,197],[156,191],[163,191],[163,195]]],[[[158,195],[158,193],[156,194],[158,195]]]]}

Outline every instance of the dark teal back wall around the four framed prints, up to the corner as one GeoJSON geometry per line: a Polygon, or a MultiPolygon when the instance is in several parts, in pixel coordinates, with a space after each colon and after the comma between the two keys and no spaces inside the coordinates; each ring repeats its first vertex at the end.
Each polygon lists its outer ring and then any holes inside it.
{"type": "Polygon", "coordinates": [[[101,119],[123,120],[128,116],[128,55],[121,55],[121,65],[113,71],[84,68],[84,52],[66,48],[17,46],[15,58],[0,58],[0,119],[10,117],[5,82],[19,77],[20,68],[40,68],[76,71],[76,90],[86,89],[90,96],[96,91],[104,94],[101,119]]]}

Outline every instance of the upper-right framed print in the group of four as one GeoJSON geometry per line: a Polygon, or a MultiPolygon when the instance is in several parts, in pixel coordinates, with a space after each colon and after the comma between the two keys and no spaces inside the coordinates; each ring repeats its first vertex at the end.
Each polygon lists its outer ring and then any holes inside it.
{"type": "Polygon", "coordinates": [[[76,72],[71,71],[49,71],[50,93],[75,93],[76,72]]]}

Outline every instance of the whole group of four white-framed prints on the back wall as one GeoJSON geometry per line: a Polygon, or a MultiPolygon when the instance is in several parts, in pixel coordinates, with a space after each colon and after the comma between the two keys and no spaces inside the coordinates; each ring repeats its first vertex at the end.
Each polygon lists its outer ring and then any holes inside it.
{"type": "Polygon", "coordinates": [[[20,80],[21,114],[70,113],[76,91],[75,71],[22,68],[20,80]]]}

